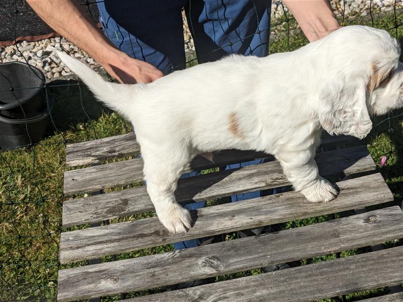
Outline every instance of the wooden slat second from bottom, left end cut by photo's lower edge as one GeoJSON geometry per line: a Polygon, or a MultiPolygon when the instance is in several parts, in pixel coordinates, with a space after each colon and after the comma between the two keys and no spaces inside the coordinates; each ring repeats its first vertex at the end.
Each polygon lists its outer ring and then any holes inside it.
{"type": "Polygon", "coordinates": [[[398,284],[402,265],[403,247],[397,247],[124,301],[311,301],[398,284]]]}

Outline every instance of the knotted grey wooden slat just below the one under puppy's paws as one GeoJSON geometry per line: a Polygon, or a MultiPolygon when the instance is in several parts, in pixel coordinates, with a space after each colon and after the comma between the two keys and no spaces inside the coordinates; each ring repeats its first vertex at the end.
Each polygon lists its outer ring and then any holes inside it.
{"type": "Polygon", "coordinates": [[[71,301],[176,284],[400,237],[403,237],[403,213],[398,206],[388,207],[262,236],[59,270],[58,300],[71,301]]]}

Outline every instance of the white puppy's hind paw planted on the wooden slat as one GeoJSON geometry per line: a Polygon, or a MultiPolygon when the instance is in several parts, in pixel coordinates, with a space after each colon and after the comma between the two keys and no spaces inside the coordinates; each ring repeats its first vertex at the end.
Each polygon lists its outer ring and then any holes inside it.
{"type": "Polygon", "coordinates": [[[186,233],[191,228],[190,212],[177,203],[171,203],[157,215],[169,233],[186,233]]]}

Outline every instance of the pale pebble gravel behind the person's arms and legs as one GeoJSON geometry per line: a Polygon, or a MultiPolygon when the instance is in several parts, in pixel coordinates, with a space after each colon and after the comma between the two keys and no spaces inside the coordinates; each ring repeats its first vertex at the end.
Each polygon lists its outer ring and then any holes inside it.
{"type": "MultiPolygon", "coordinates": [[[[396,1],[396,7],[402,7],[403,0],[396,1]]],[[[336,16],[341,17],[345,10],[345,16],[347,18],[355,18],[357,15],[365,16],[369,14],[370,0],[354,0],[354,1],[337,1],[331,0],[330,5],[336,16]]],[[[373,0],[372,10],[373,12],[385,12],[393,9],[394,0],[373,0]]],[[[272,21],[281,20],[284,16],[284,12],[290,16],[286,7],[281,5],[280,1],[273,1],[272,5],[272,21]]],[[[184,21],[183,35],[185,39],[185,52],[189,56],[194,52],[193,38],[191,37],[189,28],[185,22],[186,17],[182,13],[184,21]]],[[[278,30],[272,31],[272,38],[276,38],[278,30]]],[[[62,46],[70,55],[75,56],[79,60],[89,64],[94,69],[102,69],[102,67],[90,58],[84,51],[79,49],[74,44],[66,41],[63,38],[50,38],[40,40],[37,42],[23,41],[16,45],[0,47],[0,61],[21,61],[28,62],[29,64],[41,69],[45,74],[48,81],[58,78],[66,77],[72,74],[69,68],[65,67],[60,59],[54,54],[53,50],[60,49],[62,46]]]]}

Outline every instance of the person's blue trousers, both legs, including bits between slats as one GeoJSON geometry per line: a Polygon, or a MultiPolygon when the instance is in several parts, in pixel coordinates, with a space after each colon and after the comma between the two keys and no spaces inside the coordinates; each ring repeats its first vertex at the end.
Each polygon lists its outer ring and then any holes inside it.
{"type": "MultiPolygon", "coordinates": [[[[225,55],[266,56],[270,37],[271,0],[105,0],[97,3],[100,23],[108,39],[129,56],[146,61],[164,74],[186,67],[181,9],[185,8],[197,61],[225,55]]],[[[229,165],[235,169],[261,160],[229,165]]],[[[194,176],[187,173],[183,177],[194,176]]],[[[260,196],[260,191],[231,196],[231,201],[260,196]]],[[[185,205],[197,209],[205,202],[185,205]]],[[[174,244],[195,247],[199,240],[174,244]]]]}

